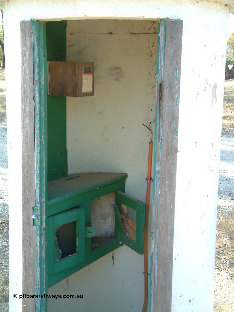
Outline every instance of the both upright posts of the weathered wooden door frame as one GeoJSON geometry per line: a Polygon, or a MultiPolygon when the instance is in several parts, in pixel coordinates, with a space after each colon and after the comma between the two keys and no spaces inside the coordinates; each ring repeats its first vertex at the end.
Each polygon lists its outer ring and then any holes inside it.
{"type": "MultiPolygon", "coordinates": [[[[153,252],[151,255],[149,298],[149,310],[157,312],[171,311],[172,300],[182,27],[182,21],[169,19],[161,20],[158,27],[153,228],[151,236],[153,252]]],[[[45,198],[47,198],[47,189],[44,183],[47,181],[45,170],[47,163],[47,153],[45,153],[47,150],[45,140],[47,116],[44,115],[47,111],[47,96],[44,94],[44,85],[47,85],[47,77],[44,75],[46,73],[46,23],[39,21],[21,22],[20,30],[22,207],[24,211],[22,247],[23,268],[27,268],[23,271],[23,291],[44,294],[47,290],[45,261],[45,198]],[[34,205],[40,209],[39,226],[32,226],[32,207],[34,205]]],[[[37,312],[45,311],[47,300],[43,298],[36,299],[36,301],[24,299],[23,305],[25,307],[22,307],[22,311],[28,310],[28,307],[30,307],[30,311],[33,311],[34,307],[37,312]]]]}

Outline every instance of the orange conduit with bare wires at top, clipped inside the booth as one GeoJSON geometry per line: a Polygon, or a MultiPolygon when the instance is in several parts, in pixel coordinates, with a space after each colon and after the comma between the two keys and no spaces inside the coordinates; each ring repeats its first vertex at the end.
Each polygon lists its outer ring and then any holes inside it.
{"type": "MultiPolygon", "coordinates": [[[[146,128],[149,129],[145,124],[146,128]]],[[[145,312],[147,303],[148,303],[148,221],[149,221],[149,197],[150,197],[150,185],[151,185],[151,167],[152,167],[152,132],[150,131],[150,142],[149,142],[149,157],[148,157],[148,173],[147,173],[147,188],[146,188],[146,201],[145,201],[145,232],[144,232],[144,285],[145,285],[145,294],[144,294],[144,305],[142,312],[145,312]]]]}

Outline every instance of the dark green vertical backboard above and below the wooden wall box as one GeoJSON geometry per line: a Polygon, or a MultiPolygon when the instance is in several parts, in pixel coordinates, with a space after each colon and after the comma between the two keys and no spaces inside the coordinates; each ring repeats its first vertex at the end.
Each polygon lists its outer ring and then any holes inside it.
{"type": "MultiPolygon", "coordinates": [[[[66,61],[66,26],[66,21],[46,22],[47,61],[66,61]]],[[[48,181],[51,181],[67,176],[66,96],[47,95],[47,124],[48,181]]]]}

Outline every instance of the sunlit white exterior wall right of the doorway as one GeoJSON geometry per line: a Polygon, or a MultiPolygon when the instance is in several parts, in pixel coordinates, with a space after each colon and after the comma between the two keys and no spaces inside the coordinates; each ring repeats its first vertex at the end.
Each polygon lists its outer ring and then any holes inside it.
{"type": "Polygon", "coordinates": [[[223,9],[194,8],[189,15],[190,23],[184,20],[183,24],[173,311],[213,311],[218,168],[228,25],[228,12],[223,9]],[[217,23],[219,20],[225,22],[217,23]],[[197,30],[194,32],[195,24],[197,30]]]}

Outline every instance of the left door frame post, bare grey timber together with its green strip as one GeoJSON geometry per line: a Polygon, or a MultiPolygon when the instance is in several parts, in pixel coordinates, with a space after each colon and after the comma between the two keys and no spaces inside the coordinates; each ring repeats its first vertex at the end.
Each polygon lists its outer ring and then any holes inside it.
{"type": "MultiPolygon", "coordinates": [[[[47,131],[44,84],[46,72],[45,22],[20,22],[21,34],[21,129],[22,129],[22,291],[44,295],[47,290],[45,267],[45,166],[47,131]],[[39,224],[33,225],[33,207],[39,209],[39,224]]],[[[42,312],[44,298],[23,298],[22,311],[42,312]]]]}

